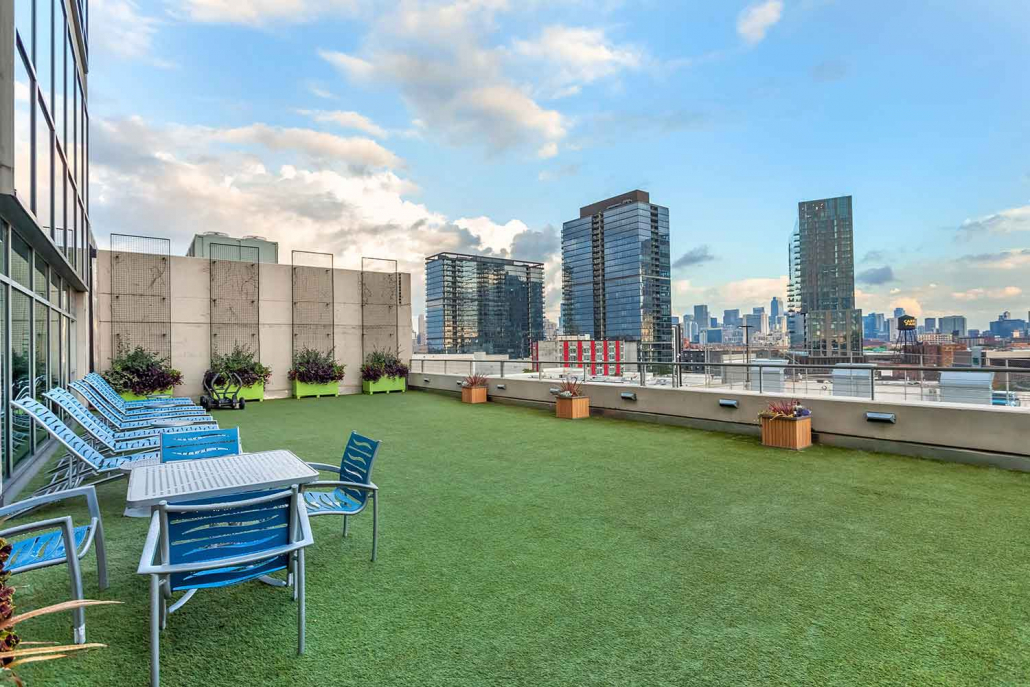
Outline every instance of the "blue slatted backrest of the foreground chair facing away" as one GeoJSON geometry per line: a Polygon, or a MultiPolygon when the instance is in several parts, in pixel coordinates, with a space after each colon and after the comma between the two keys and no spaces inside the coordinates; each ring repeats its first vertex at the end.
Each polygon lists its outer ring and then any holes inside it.
{"type": "MultiPolygon", "coordinates": [[[[253,497],[253,494],[249,494],[253,497]]],[[[289,544],[289,523],[296,517],[293,494],[262,504],[214,511],[168,511],[169,563],[187,564],[260,554],[289,544]]],[[[256,559],[245,565],[171,576],[173,589],[221,587],[283,570],[287,555],[256,559]]]]}

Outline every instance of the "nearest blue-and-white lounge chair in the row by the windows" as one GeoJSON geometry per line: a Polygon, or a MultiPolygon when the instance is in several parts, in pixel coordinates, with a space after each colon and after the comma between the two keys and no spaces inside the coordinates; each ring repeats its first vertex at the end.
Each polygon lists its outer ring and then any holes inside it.
{"type": "Polygon", "coordinates": [[[33,399],[11,401],[11,406],[25,411],[47,434],[58,440],[68,452],[69,460],[64,470],[54,473],[50,482],[36,493],[53,493],[73,489],[87,479],[96,477],[92,484],[102,484],[126,476],[125,469],[139,465],[153,465],[161,458],[159,451],[140,451],[131,455],[105,456],[76,435],[46,406],[33,399]]]}

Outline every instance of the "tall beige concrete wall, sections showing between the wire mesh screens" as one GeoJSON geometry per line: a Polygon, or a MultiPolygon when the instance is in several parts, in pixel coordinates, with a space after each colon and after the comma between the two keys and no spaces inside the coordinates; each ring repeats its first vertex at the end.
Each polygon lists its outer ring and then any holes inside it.
{"type": "MultiPolygon", "coordinates": [[[[272,368],[266,398],[284,398],[290,391],[286,372],[293,355],[293,269],[290,265],[261,266],[261,360],[272,368]]],[[[99,251],[96,274],[97,365],[106,370],[114,352],[109,251],[99,251]]],[[[333,271],[333,340],[337,362],[347,366],[341,393],[360,391],[363,345],[366,352],[377,347],[392,349],[400,332],[401,358],[411,357],[411,275],[402,273],[399,277],[400,299],[392,274],[366,272],[363,306],[362,272],[333,271]]],[[[210,284],[210,262],[206,257],[171,257],[171,358],[183,376],[176,396],[198,397],[203,391],[204,373],[211,359],[210,284]]]]}

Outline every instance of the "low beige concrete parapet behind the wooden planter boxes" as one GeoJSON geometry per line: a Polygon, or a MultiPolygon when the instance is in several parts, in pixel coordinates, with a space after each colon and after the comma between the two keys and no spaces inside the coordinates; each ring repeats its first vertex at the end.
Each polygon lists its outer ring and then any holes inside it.
{"type": "MultiPolygon", "coordinates": [[[[455,392],[461,375],[412,372],[411,388],[455,392]]],[[[491,401],[553,403],[554,381],[493,377],[491,401]],[[497,388],[504,384],[505,388],[497,388]]],[[[757,434],[758,413],[776,397],[718,389],[672,389],[632,385],[583,384],[591,409],[632,419],[658,420],[705,430],[757,434]],[[621,398],[637,394],[636,401],[621,398]],[[720,399],[739,402],[723,408],[720,399]]],[[[1027,430],[1030,414],[1018,408],[990,408],[955,404],[899,404],[834,398],[803,399],[812,409],[812,430],[822,443],[887,453],[903,453],[1030,472],[1027,430]],[[896,424],[869,422],[866,412],[894,413],[896,424]]],[[[677,450],[670,446],[670,451],[677,450]]]]}

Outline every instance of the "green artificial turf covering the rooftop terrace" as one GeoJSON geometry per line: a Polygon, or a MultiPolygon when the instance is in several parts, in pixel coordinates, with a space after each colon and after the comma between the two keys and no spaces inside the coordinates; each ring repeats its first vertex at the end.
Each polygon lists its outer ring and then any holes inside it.
{"type": "MultiPolygon", "coordinates": [[[[1030,475],[425,392],[217,419],[315,461],[350,430],[382,440],[379,560],[371,512],[346,542],[312,520],[307,653],[287,591],[200,591],[162,636],[169,687],[1030,682],[1030,475]]],[[[110,588],[83,566],[88,596],[125,602],[87,610],[109,648],[27,665],[30,685],[147,684],[146,521],[122,517],[125,488],[100,489],[110,588]]],[[[13,582],[22,610],[67,597],[63,569],[13,582]]]]}

